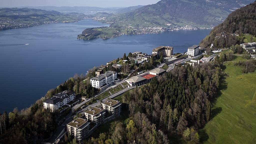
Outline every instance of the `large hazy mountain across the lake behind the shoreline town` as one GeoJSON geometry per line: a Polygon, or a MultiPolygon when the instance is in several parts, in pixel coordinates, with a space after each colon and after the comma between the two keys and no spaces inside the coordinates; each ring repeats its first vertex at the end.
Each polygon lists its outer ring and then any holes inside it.
{"type": "Polygon", "coordinates": [[[232,11],[254,0],[162,0],[132,12],[112,15],[113,27],[185,26],[213,27],[232,11]]]}

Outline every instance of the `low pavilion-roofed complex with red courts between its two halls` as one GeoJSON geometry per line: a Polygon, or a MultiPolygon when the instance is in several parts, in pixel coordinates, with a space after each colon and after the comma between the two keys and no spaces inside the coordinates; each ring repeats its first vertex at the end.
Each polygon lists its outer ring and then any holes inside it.
{"type": "Polygon", "coordinates": [[[131,86],[141,86],[147,84],[151,81],[153,77],[161,76],[166,72],[166,70],[162,68],[152,69],[144,74],[133,76],[130,79],[125,80],[131,86]]]}

